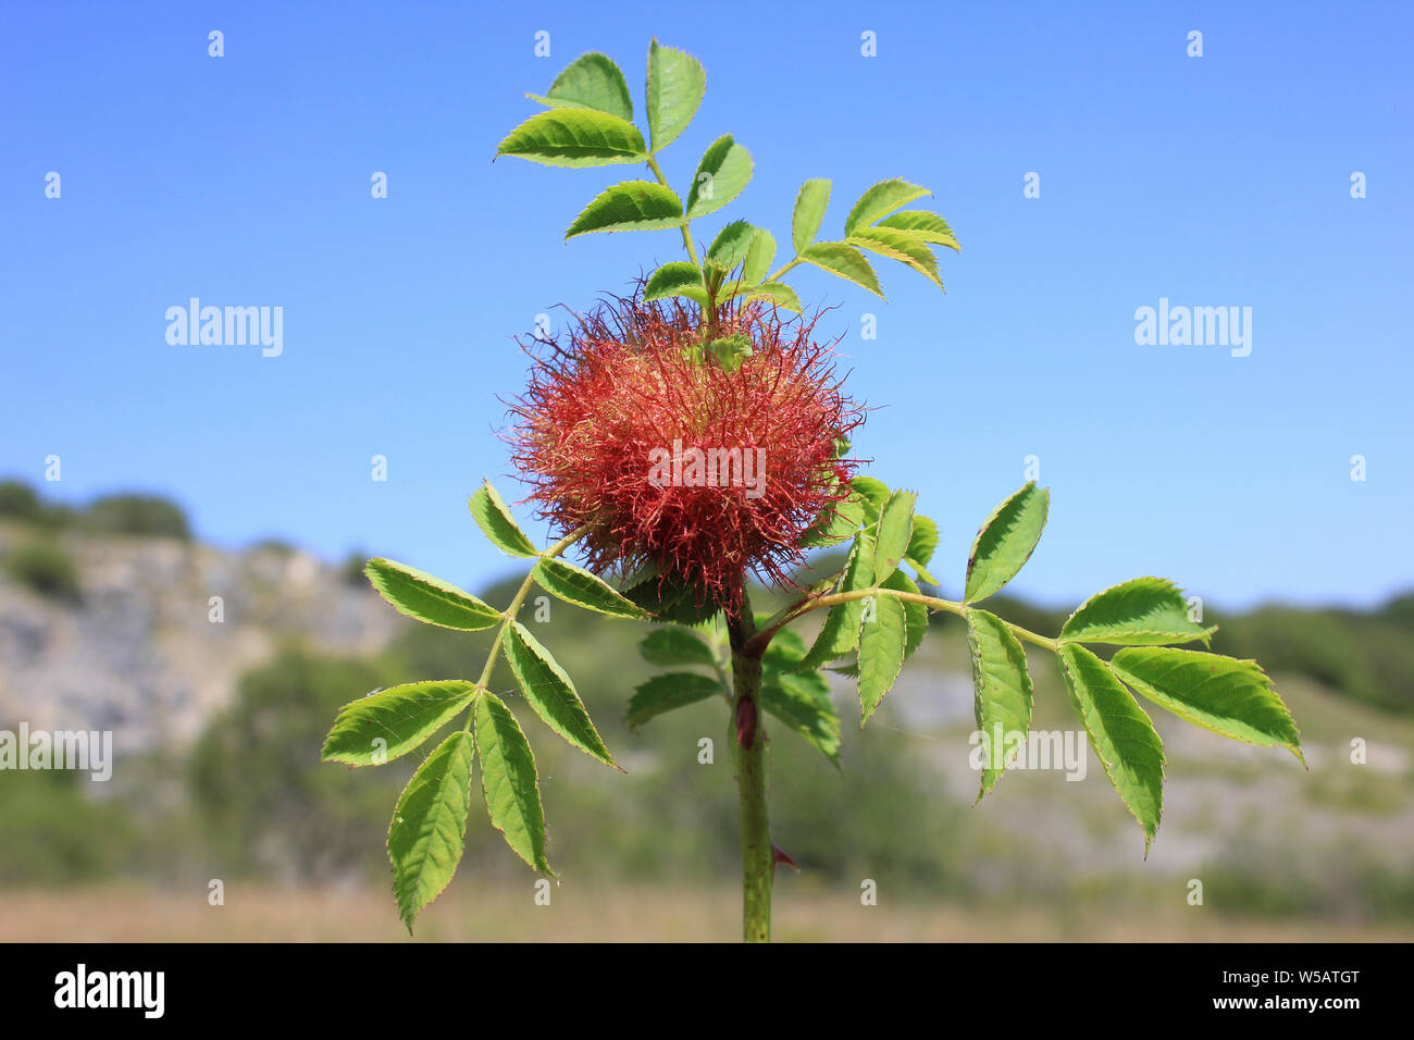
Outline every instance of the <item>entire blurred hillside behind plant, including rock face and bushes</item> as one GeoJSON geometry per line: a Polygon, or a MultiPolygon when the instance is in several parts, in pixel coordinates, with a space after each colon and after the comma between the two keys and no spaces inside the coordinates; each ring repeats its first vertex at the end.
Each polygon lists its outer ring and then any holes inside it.
{"type": "MultiPolygon", "coordinates": [[[[503,603],[518,582],[475,590],[503,603]]],[[[721,899],[738,856],[721,705],[629,732],[628,698],[658,671],[635,649],[646,628],[564,604],[534,621],[534,606],[526,624],[574,676],[628,770],[605,770],[509,700],[539,763],[551,863],[567,886],[614,899],[642,886],[721,899]],[[697,760],[704,736],[718,741],[715,764],[697,760]]],[[[1039,631],[1063,620],[1018,601],[995,608],[1039,631]]],[[[864,733],[853,686],[839,676],[843,771],[793,733],[771,730],[775,838],[803,867],[782,876],[782,901],[857,906],[861,879],[874,879],[895,911],[995,915],[1048,937],[1103,935],[1094,923],[1116,921],[1143,931],[1151,917],[1174,931],[1205,914],[1316,930],[1305,934],[1414,934],[1414,597],[1369,613],[1273,606],[1209,610],[1205,620],[1222,625],[1215,649],[1254,657],[1275,676],[1309,771],[1285,751],[1226,741],[1154,707],[1168,784],[1148,860],[1093,756],[1083,781],[1014,771],[973,808],[966,640],[954,618],[937,618],[864,733]],[[1352,761],[1352,740],[1366,743],[1363,764],[1352,761]],[[1189,879],[1203,882],[1203,907],[1188,906],[1189,879]]],[[[352,562],[329,566],[277,543],[216,550],[192,541],[181,511],[161,499],[55,509],[24,485],[0,484],[0,729],[112,729],[120,754],[106,784],[0,773],[0,886],[139,884],[204,903],[208,879],[219,877],[249,891],[314,884],[382,896],[387,816],[414,756],[370,770],[321,764],[324,734],[339,705],[372,689],[475,675],[485,648],[485,634],[406,623],[352,562]],[[221,621],[211,597],[221,597],[221,621]]],[[[1046,655],[1032,658],[1034,727],[1077,730],[1053,669],[1046,655]]],[[[513,695],[503,665],[492,688],[513,695]]],[[[529,891],[532,876],[479,805],[467,849],[448,907],[529,891]]],[[[363,896],[354,904],[382,906],[363,896]]],[[[390,900],[386,911],[359,934],[396,925],[390,900]]],[[[464,917],[438,925],[437,915],[434,906],[433,934],[478,934],[464,917]]],[[[519,934],[508,924],[516,918],[498,920],[482,934],[519,934]]],[[[281,937],[279,923],[269,927],[281,937]]],[[[848,937],[837,921],[800,928],[848,937]]]]}

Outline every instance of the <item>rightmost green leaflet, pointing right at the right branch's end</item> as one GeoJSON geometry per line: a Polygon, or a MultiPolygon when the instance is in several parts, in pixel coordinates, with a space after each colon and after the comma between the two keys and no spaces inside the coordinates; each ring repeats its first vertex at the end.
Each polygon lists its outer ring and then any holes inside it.
{"type": "Polygon", "coordinates": [[[1133,647],[1110,659],[1110,671],[1181,719],[1249,744],[1287,747],[1305,761],[1297,723],[1256,661],[1133,647]]]}

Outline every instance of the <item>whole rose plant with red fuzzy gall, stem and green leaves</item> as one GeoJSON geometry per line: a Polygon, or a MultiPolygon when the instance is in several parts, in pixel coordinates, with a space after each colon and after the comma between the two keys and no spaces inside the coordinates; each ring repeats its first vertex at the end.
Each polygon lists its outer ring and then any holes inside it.
{"type": "MultiPolygon", "coordinates": [[[[643,164],[652,180],[615,184],[573,221],[566,238],[669,229],[684,260],[665,263],[626,299],[578,314],[560,337],[529,348],[529,383],[510,405],[510,457],[557,538],[537,548],[491,483],[471,514],[491,542],[530,560],[510,603],[498,610],[403,563],[368,565],[373,587],[400,613],[461,631],[495,630],[475,679],[413,682],[378,691],[339,710],[324,758],[382,764],[436,744],[397,799],[387,833],[393,889],[407,927],[451,880],[462,853],[474,773],[492,826],[534,870],[546,857],[534,757],[515,713],[489,689],[501,655],[525,703],[585,754],[619,768],[590,720],[574,682],[518,620],[539,586],[612,618],[652,624],[642,655],[669,668],[641,685],[628,720],[701,700],[727,706],[740,798],[742,932],[771,935],[775,866],[766,809],[769,726],[793,730],[839,765],[840,717],[824,669],[853,676],[860,724],[875,713],[936,613],[966,625],[981,733],[1025,734],[1032,685],[1025,645],[1058,658],[1070,705],[1106,775],[1144,832],[1159,825],[1164,750],[1135,693],[1188,722],[1253,744],[1287,747],[1299,736],[1271,681],[1253,661],[1206,645],[1215,631],[1189,616],[1167,580],[1138,577],[1090,597],[1059,634],[1042,635],[980,606],[1028,560],[1046,522],[1049,492],[1027,484],[983,522],[967,557],[963,596],[947,600],[929,573],[937,526],[916,494],[861,474],[851,441],[864,420],[822,342],[814,317],[782,279],[812,265],[882,297],[865,253],[898,260],[942,287],[935,246],[957,250],[947,222],[904,207],[929,195],[882,180],[850,207],[844,233],[817,241],[830,201],[827,180],[806,181],[790,219],[792,259],[772,270],[776,241],[765,228],[725,224],[699,250],[693,221],[717,212],[752,175],[751,154],[731,134],[703,154],[686,200],[667,181],[660,153],[697,112],[701,65],[652,41],[648,140],[618,65],[585,54],[543,96],[544,110],[512,130],[498,156],[561,167],[643,164]],[[806,553],[847,549],[816,577],[806,553]],[[571,550],[583,566],[566,559],[571,550]],[[751,579],[789,593],[758,616],[751,579]],[[809,645],[793,625],[823,617],[809,645]],[[1092,645],[1118,647],[1102,659],[1092,645]]],[[[980,799],[1005,771],[1003,741],[984,740],[980,799]]]]}

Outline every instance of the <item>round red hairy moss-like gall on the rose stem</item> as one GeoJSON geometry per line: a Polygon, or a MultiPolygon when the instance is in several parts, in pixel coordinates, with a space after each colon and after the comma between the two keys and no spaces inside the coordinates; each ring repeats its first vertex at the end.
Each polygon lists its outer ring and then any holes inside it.
{"type": "Polygon", "coordinates": [[[529,499],[561,533],[588,528],[601,573],[652,566],[728,610],[747,572],[789,584],[802,533],[848,494],[837,456],[863,422],[813,328],[754,301],[706,334],[694,304],[641,293],[575,316],[537,340],[510,405],[529,499]]]}

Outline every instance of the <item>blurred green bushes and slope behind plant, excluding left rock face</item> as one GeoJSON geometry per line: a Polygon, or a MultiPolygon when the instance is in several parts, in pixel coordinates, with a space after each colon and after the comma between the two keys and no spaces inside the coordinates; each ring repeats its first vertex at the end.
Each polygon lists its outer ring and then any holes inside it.
{"type": "MultiPolygon", "coordinates": [[[[3,573],[75,611],[85,608],[82,576],[58,535],[189,538],[175,505],[134,495],[58,509],[4,483],[0,516],[13,535],[4,539],[3,573]]],[[[352,579],[348,562],[329,566],[352,579]]],[[[506,601],[515,583],[475,591],[506,601]]],[[[372,594],[352,580],[345,587],[348,596],[372,594]]],[[[759,596],[766,608],[769,596],[759,596]]],[[[652,671],[635,649],[643,627],[560,603],[549,621],[536,623],[536,606],[532,599],[522,620],[575,676],[605,743],[628,770],[612,774],[547,732],[529,732],[540,723],[520,712],[543,781],[551,863],[577,899],[601,893],[600,907],[575,904],[575,920],[592,921],[615,900],[682,904],[683,920],[710,920],[708,903],[735,897],[738,867],[723,706],[706,702],[631,732],[624,709],[652,671]],[[715,741],[710,765],[699,761],[703,737],[715,741]]],[[[1015,600],[1001,611],[1039,631],[1055,631],[1063,620],[1015,600]]],[[[1277,750],[1217,737],[1206,743],[1203,732],[1184,739],[1154,712],[1169,757],[1169,798],[1147,863],[1093,758],[1085,782],[1055,771],[1008,773],[973,809],[964,634],[960,624],[937,618],[881,709],[882,724],[865,733],[846,726],[841,773],[795,734],[772,730],[775,832],[803,867],[781,882],[783,935],[884,934],[851,931],[853,918],[840,917],[858,907],[863,879],[872,879],[885,894],[881,906],[892,907],[877,920],[891,921],[901,937],[935,935],[918,931],[935,925],[943,930],[935,937],[969,935],[969,923],[983,918],[1010,921],[1008,934],[1022,938],[1104,937],[1111,934],[1106,928],[1143,921],[1154,921],[1157,937],[1181,932],[1198,920],[1185,914],[1209,910],[1203,920],[1223,927],[1240,920],[1258,931],[1352,927],[1414,935],[1414,596],[1373,611],[1266,606],[1246,614],[1212,610],[1205,620],[1222,625],[1216,651],[1254,657],[1275,676],[1302,727],[1309,773],[1277,750]],[[1370,764],[1349,761],[1353,737],[1374,749],[1370,764]],[[1195,877],[1205,884],[1203,910],[1186,904],[1195,877]]],[[[356,920],[329,910],[310,937],[395,938],[382,836],[389,807],[417,763],[409,756],[348,770],[321,764],[320,747],[339,705],[399,682],[464,678],[484,659],[485,635],[409,624],[386,649],[366,657],[320,654],[300,632],[286,635],[277,655],[242,676],[228,707],[189,747],[123,758],[107,784],[72,773],[0,774],[0,918],[7,908],[37,906],[34,900],[47,899],[40,890],[48,889],[89,893],[85,899],[112,914],[137,906],[122,886],[204,906],[209,879],[222,879],[246,899],[279,899],[310,886],[348,893],[356,920]],[[376,899],[356,894],[366,891],[376,899]]],[[[1079,729],[1048,662],[1035,659],[1032,671],[1035,726],[1079,729]]],[[[492,688],[513,696],[503,672],[492,688]]],[[[851,696],[841,676],[837,702],[851,696]]],[[[16,724],[0,719],[0,727],[16,724]]],[[[436,904],[419,934],[553,937],[553,925],[522,920],[515,908],[532,906],[533,876],[486,826],[479,807],[471,821],[445,908],[436,904]]],[[[250,925],[256,932],[240,937],[304,934],[291,932],[283,914],[298,915],[318,900],[280,906],[286,910],[270,910],[269,920],[250,925]]],[[[655,924],[659,917],[635,918],[633,937],[672,934],[667,918],[655,924]]],[[[564,927],[573,932],[568,920],[564,927]]],[[[612,921],[607,927],[611,937],[625,937],[612,921]]],[[[139,930],[137,937],[151,934],[139,930]]]]}

